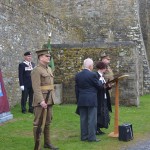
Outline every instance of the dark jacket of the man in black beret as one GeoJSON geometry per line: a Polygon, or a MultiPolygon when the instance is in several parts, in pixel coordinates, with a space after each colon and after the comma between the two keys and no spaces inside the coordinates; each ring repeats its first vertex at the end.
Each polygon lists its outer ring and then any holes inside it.
{"type": "MultiPolygon", "coordinates": [[[[32,67],[34,68],[35,64],[31,62],[32,67]]],[[[31,71],[32,69],[29,68],[27,64],[24,62],[19,64],[18,67],[18,76],[19,76],[19,84],[20,86],[24,85],[26,88],[32,87],[31,84],[31,71]]]]}

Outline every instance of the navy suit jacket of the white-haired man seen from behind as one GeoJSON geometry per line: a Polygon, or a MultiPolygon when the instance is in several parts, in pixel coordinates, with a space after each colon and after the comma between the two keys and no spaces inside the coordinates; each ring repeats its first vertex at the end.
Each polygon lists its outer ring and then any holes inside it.
{"type": "Polygon", "coordinates": [[[96,76],[96,73],[87,69],[82,70],[75,77],[75,92],[77,105],[79,106],[97,106],[97,90],[102,85],[96,76]]]}

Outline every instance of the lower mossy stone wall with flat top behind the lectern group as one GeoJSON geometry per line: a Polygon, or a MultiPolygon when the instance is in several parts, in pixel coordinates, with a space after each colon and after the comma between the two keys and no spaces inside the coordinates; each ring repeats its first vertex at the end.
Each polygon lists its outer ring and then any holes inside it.
{"type": "MultiPolygon", "coordinates": [[[[55,82],[63,83],[63,101],[75,102],[75,74],[82,69],[83,60],[92,58],[95,63],[101,53],[111,55],[111,67],[114,74],[128,74],[129,77],[119,82],[120,104],[139,105],[140,73],[136,67],[141,64],[136,46],[132,42],[92,43],[74,45],[52,45],[55,60],[55,82]],[[117,56],[117,59],[116,59],[117,56]],[[65,66],[65,68],[64,68],[65,66]]],[[[96,70],[95,70],[96,71],[96,70]]],[[[115,90],[115,87],[113,91],[115,90]]],[[[112,99],[114,100],[114,93],[112,99]]]]}

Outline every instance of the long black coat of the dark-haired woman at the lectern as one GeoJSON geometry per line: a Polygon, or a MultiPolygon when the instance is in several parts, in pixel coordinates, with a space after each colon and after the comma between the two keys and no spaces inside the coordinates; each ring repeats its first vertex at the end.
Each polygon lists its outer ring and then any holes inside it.
{"type": "MultiPolygon", "coordinates": [[[[97,77],[100,78],[100,74],[97,72],[97,77]]],[[[102,81],[99,80],[102,84],[102,81]]],[[[112,112],[111,100],[109,95],[109,88],[102,88],[97,93],[97,126],[98,128],[108,128],[110,124],[109,111],[112,112]],[[106,97],[105,98],[105,93],[106,97]]]]}

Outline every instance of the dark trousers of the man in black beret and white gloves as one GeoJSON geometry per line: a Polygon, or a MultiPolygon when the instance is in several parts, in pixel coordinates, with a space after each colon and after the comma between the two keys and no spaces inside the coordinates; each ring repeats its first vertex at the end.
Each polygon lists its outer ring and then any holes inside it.
{"type": "Polygon", "coordinates": [[[22,112],[26,112],[26,102],[29,97],[29,111],[33,111],[32,102],[33,102],[33,89],[32,87],[24,89],[22,91],[22,97],[21,97],[21,109],[22,112]]]}

